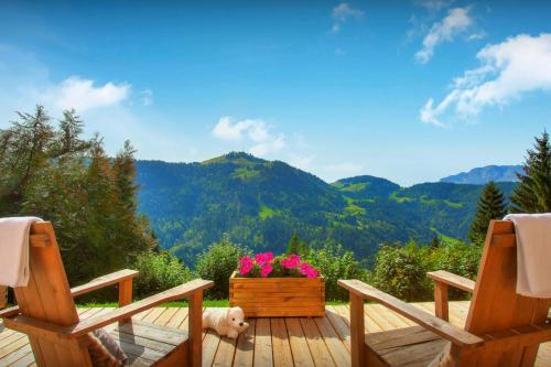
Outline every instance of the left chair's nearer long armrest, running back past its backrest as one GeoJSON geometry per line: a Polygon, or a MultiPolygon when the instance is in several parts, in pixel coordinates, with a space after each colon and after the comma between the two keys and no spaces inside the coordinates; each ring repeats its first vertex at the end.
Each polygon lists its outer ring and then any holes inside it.
{"type": "Polygon", "coordinates": [[[61,326],[57,324],[44,322],[34,317],[19,315],[12,319],[4,319],[3,323],[7,327],[32,335],[55,335],[57,337],[79,337],[94,330],[100,328],[102,326],[112,324],[119,320],[126,320],[145,311],[148,309],[154,307],[155,305],[180,300],[192,295],[194,292],[203,291],[209,287],[213,287],[214,282],[196,279],[187,282],[185,284],[174,287],[164,292],[151,295],[141,301],[128,304],[126,306],[115,309],[108,314],[104,314],[96,317],[86,319],[71,326],[61,326]]]}

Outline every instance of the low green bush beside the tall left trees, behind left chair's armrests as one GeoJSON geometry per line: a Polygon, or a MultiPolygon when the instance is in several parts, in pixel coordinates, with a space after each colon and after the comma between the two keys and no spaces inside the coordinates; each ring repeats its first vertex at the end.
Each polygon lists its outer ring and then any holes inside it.
{"type": "Polygon", "coordinates": [[[192,279],[190,269],[169,252],[143,252],[137,258],[136,269],[140,271],[134,279],[137,298],[159,293],[192,279]]]}

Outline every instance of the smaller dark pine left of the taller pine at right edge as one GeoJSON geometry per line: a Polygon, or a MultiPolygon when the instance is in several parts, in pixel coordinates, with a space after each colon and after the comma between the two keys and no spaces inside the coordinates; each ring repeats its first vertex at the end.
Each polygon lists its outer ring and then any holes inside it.
{"type": "Polygon", "coordinates": [[[468,238],[473,244],[480,244],[486,238],[489,222],[501,219],[507,214],[504,193],[494,182],[489,182],[478,199],[475,218],[471,225],[468,238]]]}

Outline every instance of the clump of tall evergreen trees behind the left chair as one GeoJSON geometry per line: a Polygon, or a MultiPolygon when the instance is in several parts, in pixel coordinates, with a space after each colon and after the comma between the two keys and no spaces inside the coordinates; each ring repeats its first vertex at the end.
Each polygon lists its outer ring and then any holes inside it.
{"type": "Polygon", "coordinates": [[[69,282],[121,268],[154,247],[137,213],[136,168],[129,142],[111,159],[98,137],[83,140],[74,110],[55,128],[44,108],[0,130],[0,216],[51,220],[69,282]]]}

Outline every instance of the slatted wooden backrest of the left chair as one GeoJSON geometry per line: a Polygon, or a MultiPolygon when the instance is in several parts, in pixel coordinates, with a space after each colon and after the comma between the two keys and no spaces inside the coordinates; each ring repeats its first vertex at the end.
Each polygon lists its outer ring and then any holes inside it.
{"type": "MultiPolygon", "coordinates": [[[[50,222],[31,226],[29,265],[29,284],[14,288],[21,314],[63,326],[78,323],[78,314],[50,222]]],[[[33,335],[29,335],[29,339],[39,366],[91,366],[86,348],[78,341],[60,344],[33,335]]]]}

